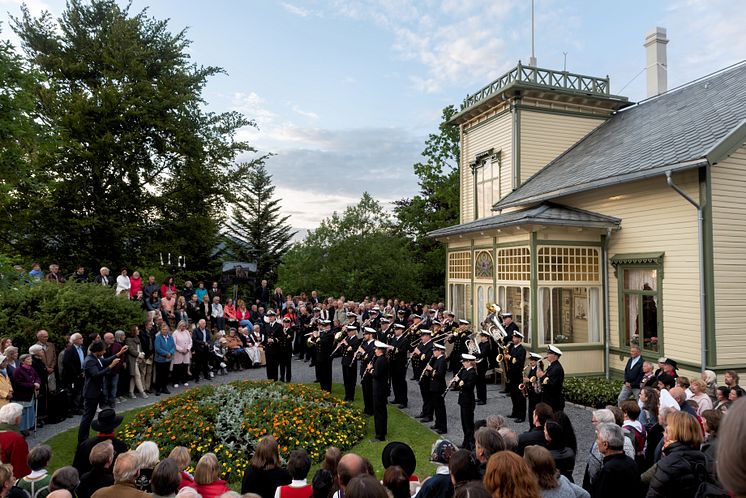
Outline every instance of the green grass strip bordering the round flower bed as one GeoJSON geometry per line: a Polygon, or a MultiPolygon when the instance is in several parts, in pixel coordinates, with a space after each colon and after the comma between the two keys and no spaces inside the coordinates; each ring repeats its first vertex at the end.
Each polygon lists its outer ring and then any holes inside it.
{"type": "MultiPolygon", "coordinates": [[[[340,384],[334,384],[332,392],[335,396],[340,399],[344,397],[344,387],[340,384]]],[[[355,406],[363,409],[363,394],[358,386],[357,394],[355,396],[355,406]]],[[[137,408],[122,412],[120,415],[124,416],[124,422],[127,423],[129,420],[137,414],[143,408],[137,408]]],[[[368,458],[376,469],[376,474],[379,478],[383,477],[383,464],[381,463],[381,452],[384,446],[389,441],[402,441],[412,447],[417,457],[417,475],[420,478],[432,475],[435,472],[435,465],[429,462],[430,448],[433,442],[438,438],[438,435],[431,431],[428,427],[410,418],[407,414],[389,405],[388,407],[388,434],[386,436],[386,442],[372,442],[375,437],[373,431],[373,418],[369,419],[367,432],[365,438],[358,444],[352,447],[350,451],[358,453],[368,458]]],[[[57,434],[47,441],[52,447],[53,457],[50,464],[51,470],[56,470],[65,465],[70,465],[75,455],[75,447],[78,438],[77,427],[57,434]]],[[[164,456],[164,455],[162,455],[164,456]]],[[[318,464],[314,465],[309,474],[309,479],[313,476],[313,473],[319,467],[318,464]]]]}

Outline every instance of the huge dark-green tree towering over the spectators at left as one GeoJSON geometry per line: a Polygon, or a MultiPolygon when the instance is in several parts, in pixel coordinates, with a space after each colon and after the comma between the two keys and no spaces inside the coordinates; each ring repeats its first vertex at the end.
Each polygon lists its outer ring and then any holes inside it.
{"type": "Polygon", "coordinates": [[[60,19],[23,7],[13,29],[33,69],[39,119],[55,130],[36,169],[49,182],[2,229],[23,254],[68,266],[199,264],[217,243],[235,156],[252,123],[203,110],[207,79],[185,32],[115,0],[69,0],[60,19]]]}

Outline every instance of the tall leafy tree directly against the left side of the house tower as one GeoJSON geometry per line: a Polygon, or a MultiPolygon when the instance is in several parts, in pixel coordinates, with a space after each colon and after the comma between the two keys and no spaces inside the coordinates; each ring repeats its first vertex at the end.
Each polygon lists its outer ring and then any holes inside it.
{"type": "Polygon", "coordinates": [[[459,132],[449,124],[456,112],[454,106],[443,109],[438,133],[425,141],[424,161],[414,165],[419,194],[397,201],[394,208],[401,230],[411,239],[415,260],[422,265],[419,281],[428,301],[445,295],[445,247],[427,233],[459,222],[459,132]]]}

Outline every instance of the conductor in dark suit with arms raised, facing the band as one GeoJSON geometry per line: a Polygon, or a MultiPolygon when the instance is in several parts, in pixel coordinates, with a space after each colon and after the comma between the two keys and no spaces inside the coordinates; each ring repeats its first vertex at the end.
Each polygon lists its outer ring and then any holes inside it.
{"type": "Polygon", "coordinates": [[[85,385],[83,387],[83,417],[80,419],[80,428],[78,429],[78,444],[88,439],[88,431],[91,429],[91,422],[96,415],[96,408],[99,404],[106,402],[104,396],[104,379],[121,361],[121,357],[127,352],[127,346],[124,346],[119,352],[108,358],[104,358],[106,346],[103,342],[94,342],[91,344],[88,356],[85,359],[85,385]]]}

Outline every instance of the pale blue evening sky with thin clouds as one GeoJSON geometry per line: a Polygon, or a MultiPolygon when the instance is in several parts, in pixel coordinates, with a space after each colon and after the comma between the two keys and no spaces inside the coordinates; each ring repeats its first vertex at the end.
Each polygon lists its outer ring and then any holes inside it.
{"type": "MultiPolygon", "coordinates": [[[[28,0],[57,17],[64,0],[28,0]]],[[[0,37],[21,0],[0,0],[0,37]]],[[[122,2],[122,4],[124,4],[122,2]]],[[[538,66],[611,78],[645,95],[645,33],[667,29],[669,89],[746,58],[746,9],[732,0],[536,0],[538,66]]],[[[530,0],[132,0],[187,29],[193,61],[219,66],[210,110],[256,121],[240,137],[272,153],[283,214],[313,229],[363,192],[385,206],[418,191],[442,109],[531,54],[530,0]]],[[[241,159],[241,158],[239,158],[241,159]]]]}

